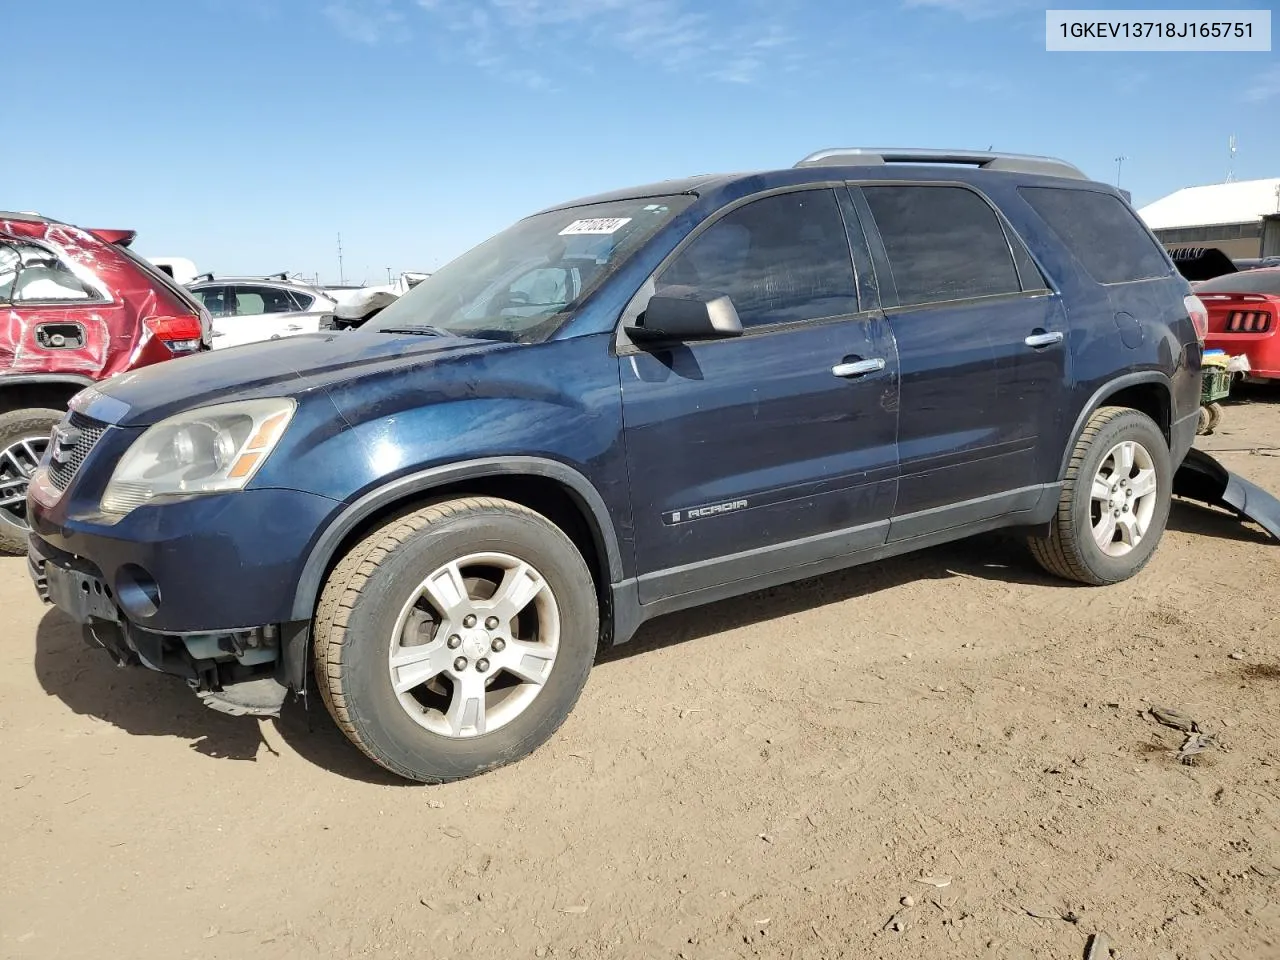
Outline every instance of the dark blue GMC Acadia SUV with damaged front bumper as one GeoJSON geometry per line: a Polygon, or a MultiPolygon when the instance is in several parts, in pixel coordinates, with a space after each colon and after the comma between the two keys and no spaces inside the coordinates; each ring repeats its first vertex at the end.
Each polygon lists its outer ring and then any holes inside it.
{"type": "Polygon", "coordinates": [[[1204,311],[1059,160],[833,150],[544,210],[357,332],[78,394],[40,595],[120,663],[385,768],[518,759],[645,620],[998,527],[1156,549],[1204,311]]]}

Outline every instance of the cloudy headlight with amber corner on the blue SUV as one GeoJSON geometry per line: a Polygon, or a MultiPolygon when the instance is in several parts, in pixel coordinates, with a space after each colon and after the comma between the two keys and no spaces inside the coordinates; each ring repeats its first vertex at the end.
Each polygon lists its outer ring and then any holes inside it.
{"type": "Polygon", "coordinates": [[[124,516],[156,497],[239,490],[293,419],[292,399],[200,407],[147,429],[120,458],[102,512],[124,516]]]}

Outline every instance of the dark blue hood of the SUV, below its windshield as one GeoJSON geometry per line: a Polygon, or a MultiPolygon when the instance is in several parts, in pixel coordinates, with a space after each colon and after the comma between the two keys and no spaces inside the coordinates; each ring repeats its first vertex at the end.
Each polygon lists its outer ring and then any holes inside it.
{"type": "Polygon", "coordinates": [[[150,426],[210,403],[298,397],[397,367],[434,365],[511,344],[458,337],[319,333],[165,361],[90,388],[77,408],[122,426],[150,426]]]}

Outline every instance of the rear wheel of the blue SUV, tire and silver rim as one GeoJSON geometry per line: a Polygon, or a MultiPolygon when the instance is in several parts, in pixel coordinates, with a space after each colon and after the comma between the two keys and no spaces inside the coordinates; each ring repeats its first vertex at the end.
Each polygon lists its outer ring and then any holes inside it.
{"type": "Polygon", "coordinates": [[[1146,413],[1102,407],[1076,440],[1048,536],[1032,538],[1044,570],[1082,584],[1128,580],[1169,520],[1169,444],[1146,413]]]}

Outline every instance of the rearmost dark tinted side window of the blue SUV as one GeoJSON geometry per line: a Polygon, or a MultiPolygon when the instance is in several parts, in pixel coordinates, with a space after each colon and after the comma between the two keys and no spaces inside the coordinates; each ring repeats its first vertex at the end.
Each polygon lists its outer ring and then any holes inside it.
{"type": "Polygon", "coordinates": [[[1061,187],[1019,187],[1018,192],[1098,283],[1169,275],[1160,244],[1119,197],[1061,187]]]}

